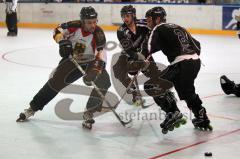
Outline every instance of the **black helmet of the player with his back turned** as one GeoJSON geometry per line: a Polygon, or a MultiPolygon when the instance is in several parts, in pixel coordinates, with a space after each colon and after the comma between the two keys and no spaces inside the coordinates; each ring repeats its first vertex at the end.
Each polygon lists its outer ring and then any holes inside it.
{"type": "Polygon", "coordinates": [[[166,16],[167,16],[167,13],[163,7],[154,7],[152,9],[149,9],[145,14],[146,18],[152,17],[153,19],[156,19],[157,17],[160,17],[161,21],[163,22],[166,21],[166,16]]]}

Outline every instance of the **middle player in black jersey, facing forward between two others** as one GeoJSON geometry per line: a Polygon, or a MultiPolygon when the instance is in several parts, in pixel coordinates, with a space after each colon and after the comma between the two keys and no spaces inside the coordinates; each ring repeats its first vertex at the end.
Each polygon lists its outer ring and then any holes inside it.
{"type": "MultiPolygon", "coordinates": [[[[146,63],[144,60],[148,57],[147,41],[150,35],[150,29],[146,22],[136,19],[136,9],[132,5],[124,6],[121,9],[123,24],[117,31],[118,40],[123,48],[118,61],[113,66],[115,77],[127,88],[131,82],[128,76],[135,75],[137,71],[142,71],[145,76],[153,76],[158,71],[153,58],[150,57],[146,63]]],[[[139,103],[136,86],[133,84],[128,90],[133,95],[133,103],[139,103]]]]}

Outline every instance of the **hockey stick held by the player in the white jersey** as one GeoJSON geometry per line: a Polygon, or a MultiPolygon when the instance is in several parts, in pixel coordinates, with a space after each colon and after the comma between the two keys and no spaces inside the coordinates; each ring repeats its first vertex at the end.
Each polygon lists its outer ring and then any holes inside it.
{"type": "MultiPolygon", "coordinates": [[[[82,67],[77,63],[77,61],[74,58],[71,58],[71,61],[73,62],[73,64],[79,69],[79,71],[85,75],[85,71],[82,69],[82,67]]],[[[116,113],[114,107],[112,107],[112,105],[109,103],[108,100],[106,100],[106,98],[104,97],[104,95],[102,94],[102,92],[100,91],[100,89],[97,87],[97,85],[91,81],[91,85],[94,87],[94,89],[97,91],[97,93],[100,95],[100,97],[107,103],[107,106],[111,109],[111,111],[113,112],[113,114],[116,116],[116,118],[118,119],[118,121],[124,126],[127,127],[127,125],[129,123],[132,122],[132,119],[130,119],[129,121],[123,121],[121,119],[121,117],[116,113]]]]}

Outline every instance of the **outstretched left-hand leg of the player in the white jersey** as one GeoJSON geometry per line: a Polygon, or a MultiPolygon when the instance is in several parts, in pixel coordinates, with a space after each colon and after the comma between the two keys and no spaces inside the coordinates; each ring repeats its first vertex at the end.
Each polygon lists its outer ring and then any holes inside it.
{"type": "Polygon", "coordinates": [[[33,116],[36,111],[42,110],[44,106],[48,104],[64,87],[74,82],[81,76],[81,72],[69,59],[62,59],[53,76],[33,97],[30,102],[30,107],[21,113],[23,117],[22,120],[33,116]]]}

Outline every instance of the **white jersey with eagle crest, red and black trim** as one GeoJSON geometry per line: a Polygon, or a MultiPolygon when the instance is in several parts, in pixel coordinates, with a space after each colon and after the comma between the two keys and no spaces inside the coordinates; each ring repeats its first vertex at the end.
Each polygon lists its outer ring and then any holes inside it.
{"type": "Polygon", "coordinates": [[[97,55],[98,51],[103,51],[103,60],[106,60],[106,52],[104,47],[106,45],[105,34],[99,26],[93,33],[86,32],[83,29],[83,24],[80,20],[69,21],[67,23],[60,24],[54,30],[53,38],[56,40],[56,36],[62,34],[64,39],[71,41],[73,46],[73,56],[77,61],[81,61],[84,55],[97,55]]]}

